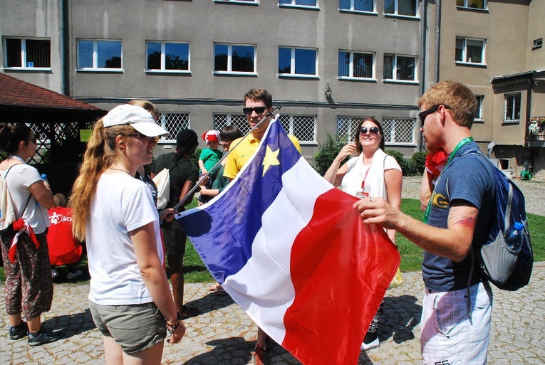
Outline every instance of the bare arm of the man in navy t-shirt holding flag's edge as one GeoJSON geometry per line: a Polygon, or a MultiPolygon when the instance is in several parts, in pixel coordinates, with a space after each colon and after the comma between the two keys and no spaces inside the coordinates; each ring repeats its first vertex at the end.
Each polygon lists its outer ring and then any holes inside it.
{"type": "Polygon", "coordinates": [[[362,199],[353,206],[360,211],[363,223],[395,229],[427,252],[454,261],[462,261],[467,256],[479,214],[479,209],[471,203],[455,200],[451,203],[447,228],[437,228],[393,208],[384,199],[362,199]]]}

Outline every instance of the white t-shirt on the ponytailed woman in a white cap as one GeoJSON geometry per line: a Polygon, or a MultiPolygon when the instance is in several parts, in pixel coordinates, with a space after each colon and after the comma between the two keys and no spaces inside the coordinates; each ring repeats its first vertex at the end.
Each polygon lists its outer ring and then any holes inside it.
{"type": "Polygon", "coordinates": [[[155,244],[162,262],[159,215],[150,188],[128,174],[100,176],[85,232],[91,302],[98,305],[152,302],[129,235],[150,222],[154,222],[155,244]]]}

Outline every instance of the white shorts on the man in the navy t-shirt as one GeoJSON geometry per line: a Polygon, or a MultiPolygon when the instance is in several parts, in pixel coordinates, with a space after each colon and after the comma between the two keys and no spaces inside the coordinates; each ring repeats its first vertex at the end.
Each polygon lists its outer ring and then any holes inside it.
{"type": "Polygon", "coordinates": [[[492,318],[492,290],[482,282],[452,292],[424,290],[420,351],[424,364],[487,364],[492,318]]]}

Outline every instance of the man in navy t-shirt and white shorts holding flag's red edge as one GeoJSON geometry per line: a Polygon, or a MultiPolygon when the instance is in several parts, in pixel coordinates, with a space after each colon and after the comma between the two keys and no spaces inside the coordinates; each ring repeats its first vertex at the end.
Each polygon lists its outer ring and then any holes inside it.
{"type": "Polygon", "coordinates": [[[469,88],[443,81],[418,106],[426,148],[449,155],[423,223],[381,199],[354,204],[364,223],[395,229],[424,249],[422,334],[424,364],[486,364],[492,290],[474,270],[494,212],[494,171],[471,137],[477,100],[469,88]]]}

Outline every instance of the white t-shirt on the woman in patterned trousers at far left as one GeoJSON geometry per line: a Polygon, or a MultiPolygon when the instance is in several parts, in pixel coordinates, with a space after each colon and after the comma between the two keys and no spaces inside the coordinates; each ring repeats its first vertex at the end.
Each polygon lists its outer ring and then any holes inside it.
{"type": "Polygon", "coordinates": [[[47,209],[40,206],[31,191],[28,189],[36,181],[41,181],[38,170],[27,164],[16,164],[8,170],[1,170],[0,174],[6,178],[9,194],[14,202],[14,211],[17,218],[21,218],[30,224],[34,233],[43,233],[49,226],[49,216],[47,209]],[[30,196],[30,200],[28,200],[30,196]],[[28,205],[26,204],[28,201],[28,205]],[[26,205],[26,208],[25,208],[26,205]],[[24,210],[24,211],[23,211],[24,210]]]}

